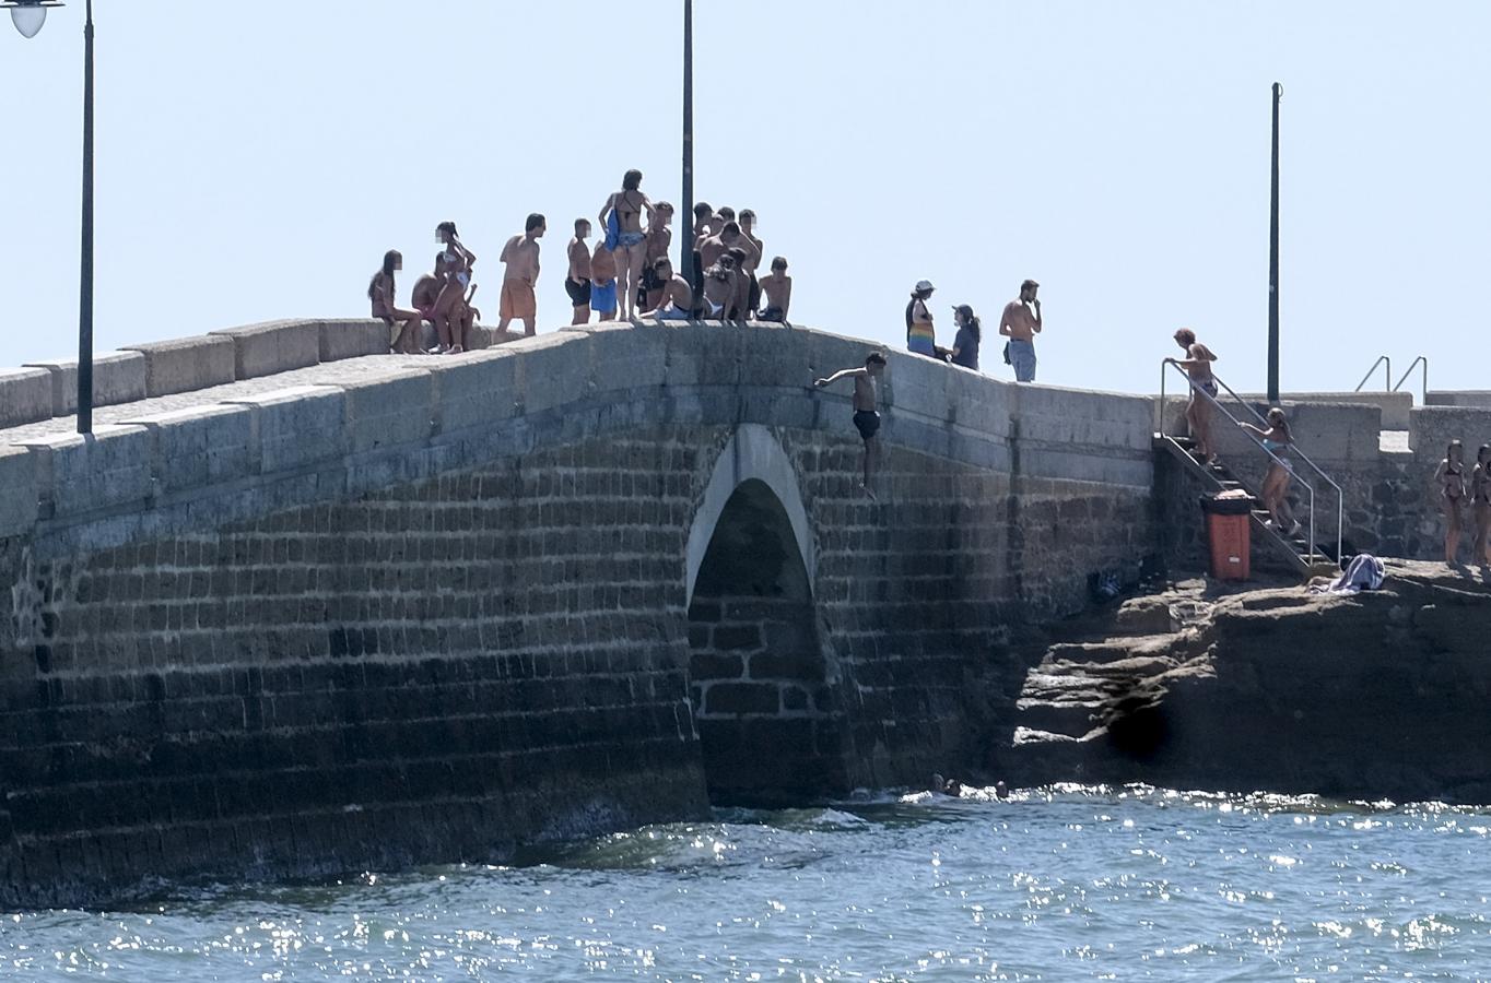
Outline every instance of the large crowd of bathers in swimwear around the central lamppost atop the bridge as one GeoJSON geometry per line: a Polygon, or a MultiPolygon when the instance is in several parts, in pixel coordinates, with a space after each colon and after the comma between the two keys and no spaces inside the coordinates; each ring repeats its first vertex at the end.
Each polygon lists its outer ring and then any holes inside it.
{"type": "MultiPolygon", "coordinates": [[[[574,220],[574,237],[565,250],[565,293],[574,313],[571,323],[584,325],[595,316],[607,320],[768,320],[787,323],[792,308],[792,276],[787,261],[774,256],[757,276],[765,244],[756,234],[756,213],[744,209],[693,207],[689,238],[692,277],[675,271],[672,246],[674,207],[653,203],[641,189],[641,171],[631,170],[613,192],[596,222],[602,229],[590,246],[589,219],[574,220]]],[[[523,231],[507,240],[498,331],[514,320],[532,335],[538,319],[538,240],[547,231],[543,214],[528,216],[523,231]]],[[[410,308],[398,305],[395,274],[404,268],[398,250],[383,255],[383,265],[368,283],[373,317],[397,328],[391,350],[397,354],[456,354],[471,347],[471,331],[480,311],[473,307],[476,253],[461,243],[455,222],[435,228],[441,246],[431,273],[419,277],[410,292],[410,308]],[[435,346],[425,349],[423,325],[435,332],[435,346]]]]}

